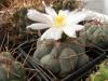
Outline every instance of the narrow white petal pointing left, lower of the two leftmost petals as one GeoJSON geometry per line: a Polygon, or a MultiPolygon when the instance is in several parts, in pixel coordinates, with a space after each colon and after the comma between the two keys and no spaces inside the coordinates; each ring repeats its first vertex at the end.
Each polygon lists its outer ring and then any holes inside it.
{"type": "Polygon", "coordinates": [[[44,29],[44,28],[49,28],[50,26],[48,24],[41,24],[41,23],[36,23],[36,24],[31,24],[29,26],[27,26],[26,28],[30,28],[30,29],[44,29]]]}

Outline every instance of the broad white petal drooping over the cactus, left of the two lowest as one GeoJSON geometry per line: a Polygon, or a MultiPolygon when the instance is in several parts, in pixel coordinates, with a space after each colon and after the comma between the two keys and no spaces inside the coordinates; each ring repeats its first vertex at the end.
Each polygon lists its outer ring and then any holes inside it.
{"type": "Polygon", "coordinates": [[[41,37],[41,40],[43,39],[54,39],[54,40],[58,40],[62,37],[62,29],[58,28],[50,28],[48,29],[41,37]]]}

